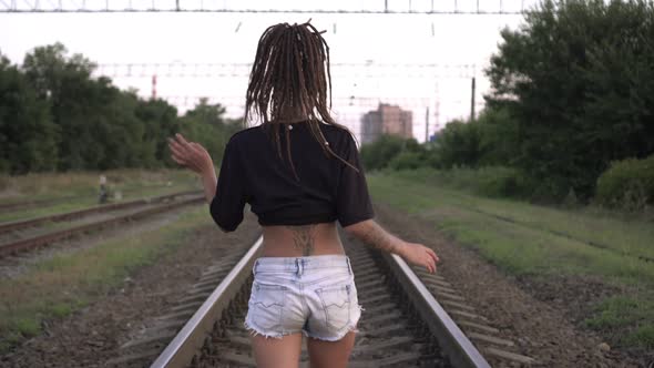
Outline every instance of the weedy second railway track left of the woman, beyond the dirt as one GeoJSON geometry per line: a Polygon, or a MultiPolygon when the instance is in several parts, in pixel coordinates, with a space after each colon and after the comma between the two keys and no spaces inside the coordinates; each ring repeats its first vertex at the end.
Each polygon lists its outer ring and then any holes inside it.
{"type": "MultiPolygon", "coordinates": [[[[191,193],[197,193],[197,192],[191,192],[191,193]]],[[[86,222],[84,224],[67,227],[63,229],[49,231],[44,234],[41,232],[35,235],[33,235],[33,234],[27,235],[27,236],[19,235],[20,238],[18,238],[18,239],[14,239],[14,238],[8,239],[8,237],[4,236],[6,239],[0,241],[0,242],[2,242],[2,243],[0,243],[0,258],[7,257],[10,255],[20,253],[20,252],[33,249],[33,248],[37,248],[40,246],[44,246],[44,245],[48,245],[48,244],[51,244],[51,243],[54,243],[58,241],[70,238],[75,235],[96,231],[96,229],[100,229],[100,228],[103,228],[103,227],[106,227],[106,226],[110,226],[113,224],[134,221],[134,219],[141,219],[141,218],[144,218],[147,216],[152,216],[152,215],[160,214],[163,212],[172,211],[172,209],[175,209],[181,206],[202,203],[204,201],[204,196],[195,195],[195,196],[192,196],[191,198],[177,200],[172,203],[165,202],[166,200],[171,201],[172,198],[176,198],[180,196],[187,196],[188,194],[190,193],[184,192],[184,193],[177,193],[177,194],[173,194],[173,195],[156,197],[155,198],[156,201],[154,201],[154,203],[155,203],[154,205],[152,205],[147,201],[145,201],[145,203],[143,203],[141,201],[134,201],[131,203],[126,203],[126,205],[127,205],[126,208],[133,208],[133,207],[140,207],[140,206],[145,206],[145,208],[131,211],[126,214],[121,214],[121,215],[113,216],[110,218],[101,218],[101,219],[96,219],[96,221],[92,221],[92,222],[86,222]]],[[[120,209],[125,209],[125,207],[120,207],[120,209]]],[[[64,218],[71,219],[74,217],[86,216],[91,213],[102,213],[102,212],[106,212],[106,211],[116,211],[116,206],[114,206],[114,205],[100,206],[100,207],[94,207],[94,208],[90,208],[90,209],[78,211],[72,214],[45,216],[45,217],[38,218],[35,221],[16,222],[16,223],[7,224],[7,226],[0,233],[6,233],[3,235],[7,235],[7,233],[9,233],[10,231],[22,229],[24,227],[30,227],[30,226],[38,226],[38,225],[49,223],[52,221],[60,221],[61,222],[64,218]],[[72,216],[72,217],[70,217],[70,216],[72,216]],[[55,219],[52,219],[53,217],[55,219]],[[24,223],[24,224],[21,224],[21,223],[24,223]],[[14,226],[14,227],[11,227],[11,226],[14,226]]],[[[4,225],[6,224],[3,224],[3,226],[4,225]]]]}

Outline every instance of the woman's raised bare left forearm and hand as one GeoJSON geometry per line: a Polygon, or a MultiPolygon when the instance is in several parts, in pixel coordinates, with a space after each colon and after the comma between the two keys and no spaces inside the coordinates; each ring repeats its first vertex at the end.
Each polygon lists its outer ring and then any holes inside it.
{"type": "Polygon", "coordinates": [[[204,197],[211,203],[216,196],[217,178],[214,162],[205,147],[196,142],[187,142],[180,133],[175,134],[174,139],[168,139],[168,147],[173,161],[202,176],[204,197]]]}

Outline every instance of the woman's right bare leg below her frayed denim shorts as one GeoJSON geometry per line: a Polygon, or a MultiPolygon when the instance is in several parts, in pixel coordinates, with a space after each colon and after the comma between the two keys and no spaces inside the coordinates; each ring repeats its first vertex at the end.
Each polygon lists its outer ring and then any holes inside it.
{"type": "Polygon", "coordinates": [[[315,338],[307,339],[307,349],[311,368],[347,367],[350,352],[355,346],[354,331],[348,333],[338,341],[325,341],[315,338]]]}

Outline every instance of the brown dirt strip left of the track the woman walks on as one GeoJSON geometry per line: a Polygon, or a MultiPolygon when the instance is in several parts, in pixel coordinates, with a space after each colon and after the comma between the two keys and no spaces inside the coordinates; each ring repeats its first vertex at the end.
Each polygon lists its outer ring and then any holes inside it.
{"type": "Polygon", "coordinates": [[[202,270],[221,259],[225,249],[252,244],[259,226],[248,215],[237,232],[215,225],[186,238],[184,246],[126,278],[123,286],[89,307],[44,326],[42,336],[0,357],[2,367],[101,367],[117,354],[150,316],[164,314],[202,270]]]}

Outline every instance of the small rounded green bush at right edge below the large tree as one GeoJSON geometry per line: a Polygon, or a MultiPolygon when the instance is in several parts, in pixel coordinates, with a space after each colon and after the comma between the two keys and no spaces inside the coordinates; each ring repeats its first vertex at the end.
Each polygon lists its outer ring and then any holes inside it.
{"type": "Polygon", "coordinates": [[[626,211],[643,211],[654,204],[654,155],[611,163],[597,180],[595,201],[626,211]]]}

